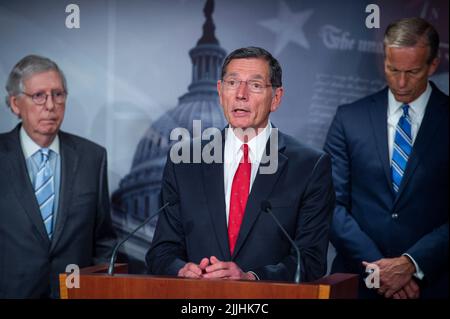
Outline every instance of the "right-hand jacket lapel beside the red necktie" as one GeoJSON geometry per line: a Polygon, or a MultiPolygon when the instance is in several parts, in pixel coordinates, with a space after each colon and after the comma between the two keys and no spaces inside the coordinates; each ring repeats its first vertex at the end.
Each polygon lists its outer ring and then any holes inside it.
{"type": "MultiPolygon", "coordinates": [[[[274,128],[273,130],[275,130],[274,128]]],[[[272,132],[273,134],[273,132],[272,132]]],[[[270,154],[270,141],[269,139],[266,146],[266,154],[270,154]]],[[[252,189],[250,191],[247,206],[245,208],[244,219],[242,220],[242,225],[239,230],[239,236],[236,242],[236,247],[233,252],[233,258],[237,256],[239,250],[244,245],[246,238],[250,234],[253,225],[258,219],[261,213],[261,202],[266,200],[272,190],[274,189],[278,178],[283,172],[288,158],[283,154],[285,149],[285,142],[282,133],[278,132],[278,168],[274,174],[260,174],[260,169],[258,169],[258,174],[256,175],[255,181],[253,182],[252,189]]],[[[261,165],[260,165],[261,168],[261,165]]]]}

